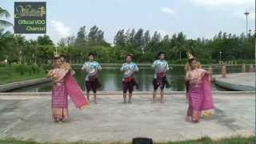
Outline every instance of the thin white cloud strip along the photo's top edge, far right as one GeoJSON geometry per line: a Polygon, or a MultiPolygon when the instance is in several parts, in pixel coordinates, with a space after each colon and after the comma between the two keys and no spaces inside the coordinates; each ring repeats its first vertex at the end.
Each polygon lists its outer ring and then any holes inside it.
{"type": "Polygon", "coordinates": [[[202,6],[250,6],[252,0],[190,0],[194,4],[202,6]]]}

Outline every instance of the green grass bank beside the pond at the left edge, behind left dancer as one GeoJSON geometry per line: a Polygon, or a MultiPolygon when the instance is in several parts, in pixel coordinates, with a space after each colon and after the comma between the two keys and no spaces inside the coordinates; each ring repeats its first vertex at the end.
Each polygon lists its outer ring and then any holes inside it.
{"type": "Polygon", "coordinates": [[[21,75],[16,72],[13,67],[0,67],[0,85],[43,77],[46,77],[46,73],[44,72],[44,70],[40,70],[38,74],[25,73],[21,75]]]}

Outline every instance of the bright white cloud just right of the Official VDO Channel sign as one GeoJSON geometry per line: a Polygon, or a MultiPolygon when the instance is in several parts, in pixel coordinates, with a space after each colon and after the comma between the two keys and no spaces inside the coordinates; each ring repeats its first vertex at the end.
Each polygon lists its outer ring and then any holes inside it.
{"type": "Polygon", "coordinates": [[[66,38],[71,35],[71,30],[69,26],[65,26],[63,22],[57,20],[51,20],[51,25],[54,27],[54,30],[57,31],[60,38],[66,38]]]}

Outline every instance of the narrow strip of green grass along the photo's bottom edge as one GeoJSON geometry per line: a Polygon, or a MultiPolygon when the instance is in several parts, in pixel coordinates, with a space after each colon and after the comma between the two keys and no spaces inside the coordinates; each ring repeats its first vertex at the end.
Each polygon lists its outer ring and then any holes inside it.
{"type": "MultiPolygon", "coordinates": [[[[34,140],[18,140],[14,138],[0,139],[0,144],[131,144],[132,142],[35,142],[34,140]]],[[[154,142],[154,144],[255,144],[256,137],[232,137],[212,140],[210,138],[200,138],[196,140],[180,142],[154,142]]]]}

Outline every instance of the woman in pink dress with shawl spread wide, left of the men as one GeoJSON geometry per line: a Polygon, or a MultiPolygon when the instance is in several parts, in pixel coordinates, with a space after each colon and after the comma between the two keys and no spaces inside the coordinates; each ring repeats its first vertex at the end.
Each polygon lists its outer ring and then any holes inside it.
{"type": "Polygon", "coordinates": [[[65,122],[69,118],[68,95],[79,109],[88,106],[89,102],[70,74],[70,66],[63,63],[59,55],[54,56],[54,65],[54,69],[46,75],[47,78],[52,80],[52,118],[54,122],[65,122]]]}

